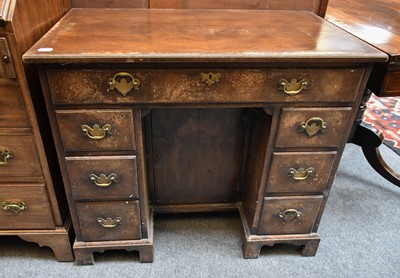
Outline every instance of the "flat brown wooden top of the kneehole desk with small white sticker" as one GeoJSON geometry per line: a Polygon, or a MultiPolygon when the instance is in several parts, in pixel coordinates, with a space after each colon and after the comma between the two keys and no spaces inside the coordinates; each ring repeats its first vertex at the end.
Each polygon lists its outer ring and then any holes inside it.
{"type": "Polygon", "coordinates": [[[254,10],[72,9],[24,55],[35,63],[386,59],[313,13],[254,10]]]}

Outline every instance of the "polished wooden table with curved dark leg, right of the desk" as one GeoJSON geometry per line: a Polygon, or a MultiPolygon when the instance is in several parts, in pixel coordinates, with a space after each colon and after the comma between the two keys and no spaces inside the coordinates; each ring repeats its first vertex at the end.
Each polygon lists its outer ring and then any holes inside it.
{"type": "Polygon", "coordinates": [[[400,1],[330,0],[326,19],[388,55],[376,63],[369,78],[357,125],[350,141],[362,147],[371,166],[388,181],[400,186],[400,175],[385,163],[379,152],[383,136],[362,125],[371,92],[379,97],[400,96],[400,1]]]}

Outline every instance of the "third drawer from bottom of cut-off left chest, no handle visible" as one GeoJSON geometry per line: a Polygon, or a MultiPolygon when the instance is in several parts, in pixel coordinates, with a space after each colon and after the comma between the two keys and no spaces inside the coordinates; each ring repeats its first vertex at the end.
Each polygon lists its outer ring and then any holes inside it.
{"type": "Polygon", "coordinates": [[[0,127],[29,127],[19,87],[0,86],[0,111],[0,127]]]}

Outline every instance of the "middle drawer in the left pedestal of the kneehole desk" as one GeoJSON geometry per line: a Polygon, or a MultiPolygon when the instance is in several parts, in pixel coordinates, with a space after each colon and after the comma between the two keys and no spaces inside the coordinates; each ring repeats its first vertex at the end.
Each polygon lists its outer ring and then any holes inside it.
{"type": "Polygon", "coordinates": [[[74,200],[137,199],[136,156],[67,157],[74,200]]]}

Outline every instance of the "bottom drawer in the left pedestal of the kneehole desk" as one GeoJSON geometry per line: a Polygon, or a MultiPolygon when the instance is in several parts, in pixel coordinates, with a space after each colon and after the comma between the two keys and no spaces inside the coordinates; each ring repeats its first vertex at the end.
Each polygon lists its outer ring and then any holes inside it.
{"type": "Polygon", "coordinates": [[[76,203],[83,241],[141,238],[139,201],[76,203]]]}

